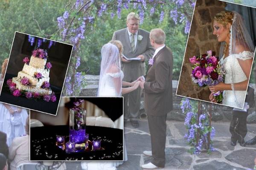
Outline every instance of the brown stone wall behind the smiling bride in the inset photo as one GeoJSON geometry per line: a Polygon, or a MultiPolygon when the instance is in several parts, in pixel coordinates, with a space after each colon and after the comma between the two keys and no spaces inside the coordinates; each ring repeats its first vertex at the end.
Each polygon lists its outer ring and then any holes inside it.
{"type": "Polygon", "coordinates": [[[225,6],[225,2],[218,0],[197,0],[180,75],[178,95],[209,101],[209,88],[200,88],[191,81],[192,68],[189,58],[206,54],[209,50],[217,53],[218,56],[220,43],[213,35],[212,23],[214,15],[224,11],[225,6]]]}

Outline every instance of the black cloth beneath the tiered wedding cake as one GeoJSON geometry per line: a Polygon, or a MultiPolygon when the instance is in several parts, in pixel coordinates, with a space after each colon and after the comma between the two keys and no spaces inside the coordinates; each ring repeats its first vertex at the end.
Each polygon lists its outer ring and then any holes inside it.
{"type": "Polygon", "coordinates": [[[12,79],[12,77],[16,77],[12,74],[6,74],[3,89],[0,96],[0,102],[5,102],[11,105],[17,105],[23,108],[29,108],[35,111],[41,111],[45,113],[50,113],[52,115],[57,114],[58,103],[61,96],[61,88],[51,85],[52,91],[55,92],[56,101],[55,102],[46,102],[43,99],[27,99],[26,97],[16,97],[11,94],[9,89],[4,88],[6,85],[7,79],[12,79]]]}

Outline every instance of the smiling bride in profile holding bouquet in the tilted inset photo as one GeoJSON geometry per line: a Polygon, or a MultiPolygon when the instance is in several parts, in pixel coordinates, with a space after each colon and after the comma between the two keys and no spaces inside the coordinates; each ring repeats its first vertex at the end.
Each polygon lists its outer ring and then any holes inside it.
{"type": "Polygon", "coordinates": [[[233,108],[244,108],[244,99],[253,63],[253,42],[244,25],[243,19],[236,11],[221,11],[213,22],[213,34],[221,42],[220,63],[226,71],[224,82],[209,87],[212,94],[223,91],[222,104],[233,108]]]}

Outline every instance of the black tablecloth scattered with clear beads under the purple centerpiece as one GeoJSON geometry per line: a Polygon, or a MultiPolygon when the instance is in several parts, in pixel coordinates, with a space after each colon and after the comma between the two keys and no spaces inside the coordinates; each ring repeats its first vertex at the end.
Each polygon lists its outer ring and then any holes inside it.
{"type": "MultiPolygon", "coordinates": [[[[69,126],[44,126],[30,128],[30,160],[123,160],[123,130],[110,127],[87,126],[89,140],[101,138],[105,150],[66,153],[55,145],[56,135],[68,136],[69,126]]],[[[66,137],[66,141],[68,138],[66,137]]]]}

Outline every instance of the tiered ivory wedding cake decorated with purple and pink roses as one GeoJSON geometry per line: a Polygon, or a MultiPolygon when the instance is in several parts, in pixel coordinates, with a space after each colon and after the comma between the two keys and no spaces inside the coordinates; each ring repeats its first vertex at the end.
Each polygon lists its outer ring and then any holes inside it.
{"type": "MultiPolygon", "coordinates": [[[[47,51],[38,48],[32,51],[30,60],[28,57],[23,59],[25,64],[22,71],[18,72],[17,77],[7,80],[7,85],[9,85],[14,96],[20,96],[24,93],[27,98],[44,96],[43,98],[47,102],[55,100],[51,99],[54,95],[49,87],[49,72],[52,65],[47,62],[47,57],[47,51]],[[45,99],[45,96],[47,96],[47,99],[45,99]]],[[[55,98],[55,95],[53,98],[55,98]]]]}

